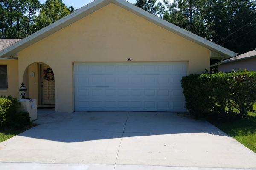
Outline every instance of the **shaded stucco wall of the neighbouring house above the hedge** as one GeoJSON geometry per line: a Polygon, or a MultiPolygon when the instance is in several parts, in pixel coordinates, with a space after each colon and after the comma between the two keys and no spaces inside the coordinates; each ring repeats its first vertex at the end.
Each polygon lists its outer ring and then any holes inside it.
{"type": "Polygon", "coordinates": [[[230,72],[233,69],[237,71],[239,68],[242,70],[247,69],[248,71],[256,71],[256,58],[244,59],[218,65],[218,71],[221,72],[230,72]]]}

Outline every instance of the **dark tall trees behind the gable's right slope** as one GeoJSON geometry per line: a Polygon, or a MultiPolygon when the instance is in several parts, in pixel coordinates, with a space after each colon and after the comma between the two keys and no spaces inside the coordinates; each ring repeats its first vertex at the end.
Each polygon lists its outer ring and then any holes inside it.
{"type": "Polygon", "coordinates": [[[256,0],[137,0],[135,5],[239,54],[256,48],[256,0]]]}

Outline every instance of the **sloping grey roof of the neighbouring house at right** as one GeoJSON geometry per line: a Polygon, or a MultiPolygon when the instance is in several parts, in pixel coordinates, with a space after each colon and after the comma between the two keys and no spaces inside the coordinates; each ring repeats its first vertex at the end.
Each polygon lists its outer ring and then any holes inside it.
{"type": "Polygon", "coordinates": [[[221,65],[221,64],[225,64],[225,63],[229,63],[229,62],[235,62],[235,61],[240,61],[240,60],[244,60],[244,59],[251,59],[251,58],[255,58],[256,57],[256,49],[255,50],[252,50],[252,51],[249,51],[247,53],[244,53],[244,54],[240,54],[236,57],[232,57],[232,58],[229,58],[229,59],[225,59],[221,62],[218,62],[214,65],[211,65],[211,67],[214,67],[214,66],[217,66],[217,65],[221,65]]]}

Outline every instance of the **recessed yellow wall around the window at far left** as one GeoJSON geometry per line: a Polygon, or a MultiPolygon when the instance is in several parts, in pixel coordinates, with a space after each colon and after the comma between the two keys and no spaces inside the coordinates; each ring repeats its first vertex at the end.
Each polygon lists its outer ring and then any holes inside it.
{"type": "Polygon", "coordinates": [[[0,90],[0,96],[20,97],[18,83],[18,60],[0,59],[0,65],[7,65],[8,89],[0,90]]]}

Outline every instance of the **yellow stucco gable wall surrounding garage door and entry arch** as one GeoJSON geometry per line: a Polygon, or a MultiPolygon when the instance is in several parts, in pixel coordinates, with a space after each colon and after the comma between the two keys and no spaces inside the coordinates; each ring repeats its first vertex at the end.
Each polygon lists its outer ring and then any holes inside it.
{"type": "MultiPolygon", "coordinates": [[[[73,62],[188,61],[188,74],[209,70],[210,51],[109,4],[18,53],[19,81],[35,62],[55,74],[55,110],[72,112],[73,62]]],[[[31,94],[30,94],[31,95],[31,94]]]]}

